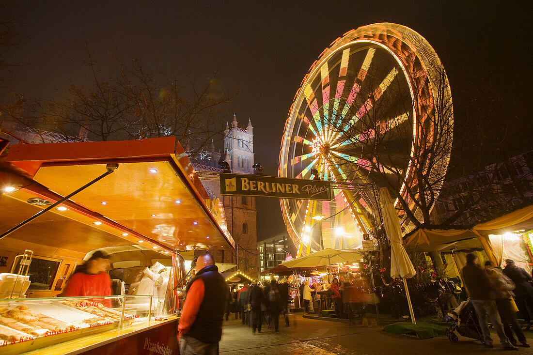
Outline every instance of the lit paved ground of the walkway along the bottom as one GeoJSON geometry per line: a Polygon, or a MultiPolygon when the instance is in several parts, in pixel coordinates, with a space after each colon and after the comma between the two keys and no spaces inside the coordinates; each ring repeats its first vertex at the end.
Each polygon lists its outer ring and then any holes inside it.
{"type": "MultiPolygon", "coordinates": [[[[280,317],[282,322],[282,319],[280,317]]],[[[349,327],[345,323],[305,319],[290,315],[290,327],[280,325],[280,332],[262,329],[252,335],[252,329],[240,320],[225,322],[220,352],[224,355],[252,354],[489,354],[502,353],[501,345],[494,338],[494,349],[485,349],[478,342],[459,336],[458,343],[446,337],[419,340],[416,337],[382,332],[382,326],[368,328],[349,327]]],[[[533,337],[531,333],[527,335],[533,337]]],[[[530,339],[533,343],[533,339],[530,339]]],[[[533,354],[533,348],[519,348],[512,354],[533,354]]]]}

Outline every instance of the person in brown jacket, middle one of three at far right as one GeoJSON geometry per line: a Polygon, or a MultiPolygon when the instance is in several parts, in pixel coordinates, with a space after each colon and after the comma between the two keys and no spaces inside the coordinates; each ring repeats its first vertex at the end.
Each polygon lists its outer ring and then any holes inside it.
{"type": "Polygon", "coordinates": [[[516,346],[516,340],[511,332],[512,329],[514,334],[516,334],[516,337],[518,337],[518,341],[520,342],[521,346],[524,348],[529,348],[528,341],[524,336],[524,333],[522,333],[522,328],[518,324],[516,315],[511,308],[511,297],[514,295],[512,290],[515,288],[513,281],[511,281],[510,278],[505,276],[498,269],[495,269],[490,261],[485,263],[485,271],[487,272],[487,276],[489,277],[492,288],[494,289],[494,298],[498,308],[498,313],[500,318],[502,318],[505,335],[507,335],[507,338],[511,344],[516,346]]]}

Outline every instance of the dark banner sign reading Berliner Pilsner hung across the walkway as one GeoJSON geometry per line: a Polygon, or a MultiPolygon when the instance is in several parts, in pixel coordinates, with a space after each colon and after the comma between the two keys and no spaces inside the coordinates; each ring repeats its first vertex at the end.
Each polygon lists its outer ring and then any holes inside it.
{"type": "Polygon", "coordinates": [[[329,181],[244,174],[220,174],[220,194],[306,200],[332,199],[329,181]]]}

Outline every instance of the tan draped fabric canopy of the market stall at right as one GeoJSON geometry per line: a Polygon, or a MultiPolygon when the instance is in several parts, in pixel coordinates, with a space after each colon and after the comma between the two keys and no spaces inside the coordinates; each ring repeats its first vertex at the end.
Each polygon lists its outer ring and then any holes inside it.
{"type": "Polygon", "coordinates": [[[489,260],[499,265],[501,255],[495,253],[488,236],[524,229],[533,229],[533,205],[473,226],[422,225],[407,233],[403,241],[407,248],[423,252],[483,248],[489,260]]]}

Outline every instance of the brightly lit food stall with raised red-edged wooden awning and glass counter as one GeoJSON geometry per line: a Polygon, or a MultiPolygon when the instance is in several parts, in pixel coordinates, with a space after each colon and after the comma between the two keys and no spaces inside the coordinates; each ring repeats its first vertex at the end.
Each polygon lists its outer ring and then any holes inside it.
{"type": "Polygon", "coordinates": [[[171,353],[180,252],[235,244],[179,142],[10,148],[0,156],[0,291],[19,288],[0,300],[0,352],[171,353]],[[114,295],[61,297],[95,250],[110,255],[114,295]]]}

